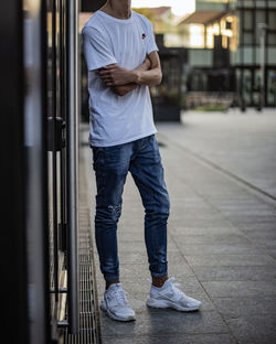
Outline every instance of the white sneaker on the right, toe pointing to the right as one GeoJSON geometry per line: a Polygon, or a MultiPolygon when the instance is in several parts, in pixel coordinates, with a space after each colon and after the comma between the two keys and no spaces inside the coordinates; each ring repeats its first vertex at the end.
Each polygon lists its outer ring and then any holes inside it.
{"type": "MultiPolygon", "coordinates": [[[[169,278],[161,288],[151,286],[147,305],[152,308],[172,308],[182,312],[197,311],[201,302],[188,297],[172,283],[174,277],[169,278]]],[[[149,280],[150,281],[150,280],[149,280]]]]}

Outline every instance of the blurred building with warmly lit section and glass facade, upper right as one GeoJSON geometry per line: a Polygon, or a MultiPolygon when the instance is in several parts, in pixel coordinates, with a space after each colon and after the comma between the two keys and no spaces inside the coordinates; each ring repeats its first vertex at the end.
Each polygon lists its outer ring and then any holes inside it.
{"type": "Polygon", "coordinates": [[[242,106],[264,95],[276,105],[275,0],[197,0],[178,26],[187,32],[189,90],[235,92],[242,106]]]}

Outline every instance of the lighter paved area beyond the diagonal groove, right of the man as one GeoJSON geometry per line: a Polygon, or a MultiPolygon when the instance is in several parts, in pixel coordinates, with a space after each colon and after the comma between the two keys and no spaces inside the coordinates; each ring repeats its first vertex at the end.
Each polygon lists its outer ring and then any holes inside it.
{"type": "MultiPolygon", "coordinates": [[[[184,112],[182,126],[160,123],[158,130],[205,159],[276,195],[275,109],[262,116],[231,110],[221,114],[184,112]]],[[[171,143],[170,143],[171,144],[171,143]]]]}

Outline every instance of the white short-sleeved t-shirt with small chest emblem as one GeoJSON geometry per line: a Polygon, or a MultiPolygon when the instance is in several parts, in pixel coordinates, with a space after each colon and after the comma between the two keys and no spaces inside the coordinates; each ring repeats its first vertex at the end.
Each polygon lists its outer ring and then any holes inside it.
{"type": "Polygon", "coordinates": [[[147,54],[158,51],[151,23],[134,11],[126,20],[96,11],[83,28],[83,49],[88,68],[89,143],[116,146],[156,133],[149,87],[138,85],[120,97],[97,71],[113,63],[135,69],[147,54]]]}

